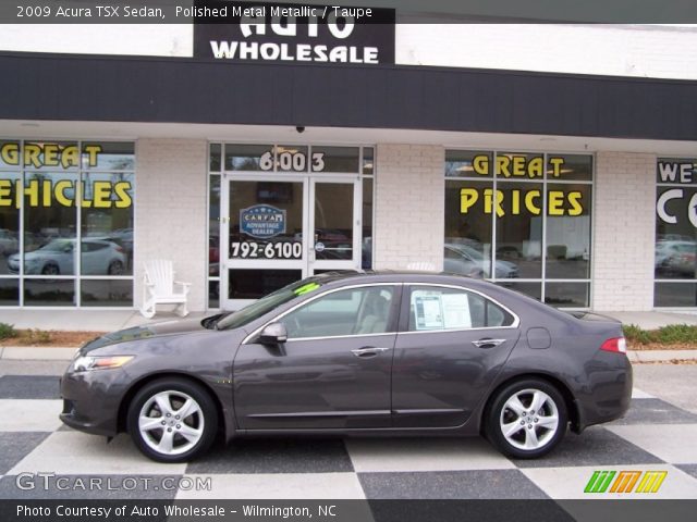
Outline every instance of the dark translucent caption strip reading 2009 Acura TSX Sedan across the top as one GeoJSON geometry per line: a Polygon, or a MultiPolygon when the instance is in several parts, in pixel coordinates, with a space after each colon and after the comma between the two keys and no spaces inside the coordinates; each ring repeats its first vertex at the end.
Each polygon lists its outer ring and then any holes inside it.
{"type": "MultiPolygon", "coordinates": [[[[276,0],[288,8],[302,0],[276,0]]],[[[326,0],[303,7],[323,9],[326,0]]],[[[342,0],[355,9],[365,0],[342,0]]],[[[206,2],[222,3],[216,2],[206,2]]],[[[234,0],[224,2],[232,4],[234,0]]],[[[396,10],[400,24],[696,24],[695,0],[371,0],[362,23],[381,25],[381,10],[396,10]]],[[[13,0],[0,1],[0,24],[191,24],[195,0],[13,0]]],[[[203,7],[203,5],[199,5],[203,7]]],[[[367,8],[365,8],[367,9],[367,8]]],[[[232,12],[232,10],[228,10],[232,12]]],[[[227,16],[204,14],[203,23],[230,23],[227,16]],[[208,20],[207,20],[208,18],[208,20]],[[213,22],[213,18],[215,22],[213,22]]]]}

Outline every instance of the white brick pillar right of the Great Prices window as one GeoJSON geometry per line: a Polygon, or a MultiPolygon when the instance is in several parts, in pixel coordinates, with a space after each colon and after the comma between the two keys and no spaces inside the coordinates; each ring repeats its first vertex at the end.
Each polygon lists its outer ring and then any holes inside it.
{"type": "Polygon", "coordinates": [[[653,308],[656,156],[599,152],[595,187],[595,310],[653,308]]]}

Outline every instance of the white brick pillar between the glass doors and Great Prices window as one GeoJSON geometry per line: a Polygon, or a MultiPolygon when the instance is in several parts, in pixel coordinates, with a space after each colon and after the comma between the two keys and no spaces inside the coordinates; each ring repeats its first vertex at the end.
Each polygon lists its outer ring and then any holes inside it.
{"type": "Polygon", "coordinates": [[[375,268],[411,262],[443,264],[444,149],[426,145],[378,145],[375,268]]]}

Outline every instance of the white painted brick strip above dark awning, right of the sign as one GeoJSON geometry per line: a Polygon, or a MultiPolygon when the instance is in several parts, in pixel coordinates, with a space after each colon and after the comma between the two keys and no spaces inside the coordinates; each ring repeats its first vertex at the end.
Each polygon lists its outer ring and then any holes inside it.
{"type": "Polygon", "coordinates": [[[653,78],[697,78],[697,28],[570,24],[400,24],[395,61],[653,78]]]}

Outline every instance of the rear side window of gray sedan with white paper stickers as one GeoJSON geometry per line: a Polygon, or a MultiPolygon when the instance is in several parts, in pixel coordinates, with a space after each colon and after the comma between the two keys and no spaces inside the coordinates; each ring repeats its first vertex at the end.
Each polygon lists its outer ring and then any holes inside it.
{"type": "Polygon", "coordinates": [[[409,289],[409,332],[510,326],[513,315],[464,289],[414,286],[409,289]]]}

